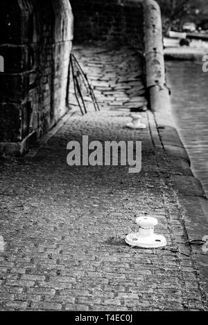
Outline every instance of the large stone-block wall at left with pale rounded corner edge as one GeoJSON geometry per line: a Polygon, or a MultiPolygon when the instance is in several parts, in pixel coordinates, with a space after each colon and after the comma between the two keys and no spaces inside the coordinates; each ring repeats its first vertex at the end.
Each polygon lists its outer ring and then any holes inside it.
{"type": "Polygon", "coordinates": [[[0,152],[22,154],[67,111],[69,0],[1,0],[0,152]]]}

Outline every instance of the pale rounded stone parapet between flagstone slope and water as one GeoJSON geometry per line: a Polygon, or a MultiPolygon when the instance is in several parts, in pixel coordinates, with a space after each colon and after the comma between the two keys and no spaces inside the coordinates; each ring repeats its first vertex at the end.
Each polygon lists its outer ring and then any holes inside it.
{"type": "MultiPolygon", "coordinates": [[[[144,0],[143,6],[146,86],[150,96],[150,109],[155,115],[157,130],[164,148],[168,149],[168,152],[173,151],[174,142],[174,147],[180,147],[178,154],[190,163],[171,113],[171,97],[166,86],[160,8],[154,0],[144,0]]],[[[177,156],[175,151],[174,156],[177,156]]]]}

